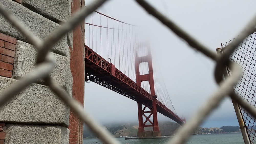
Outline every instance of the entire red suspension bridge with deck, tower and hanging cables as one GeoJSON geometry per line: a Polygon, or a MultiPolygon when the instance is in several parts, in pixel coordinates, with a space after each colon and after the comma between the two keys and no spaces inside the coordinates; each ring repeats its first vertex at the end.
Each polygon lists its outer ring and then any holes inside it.
{"type": "MultiPolygon", "coordinates": [[[[138,137],[161,136],[157,112],[182,125],[163,79],[153,71],[142,28],[99,12],[86,19],[85,81],[120,93],[138,104],[138,137]],[[153,131],[145,131],[153,127],[153,131]]],[[[154,69],[156,70],[156,69],[154,69]]]]}

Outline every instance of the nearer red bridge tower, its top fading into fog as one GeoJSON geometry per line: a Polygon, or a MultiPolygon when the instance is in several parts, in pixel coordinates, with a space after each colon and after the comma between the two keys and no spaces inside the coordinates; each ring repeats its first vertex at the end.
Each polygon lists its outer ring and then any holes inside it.
{"type": "Polygon", "coordinates": [[[138,137],[157,137],[161,136],[161,132],[158,127],[157,121],[157,111],[156,111],[156,98],[155,95],[155,87],[154,87],[154,77],[153,77],[153,65],[152,65],[152,56],[151,51],[148,46],[140,47],[135,50],[135,73],[136,73],[136,83],[141,86],[143,81],[148,81],[150,85],[150,92],[153,101],[145,101],[138,100],[138,120],[139,120],[139,128],[138,128],[138,137]],[[142,48],[147,49],[147,54],[145,56],[139,56],[139,50],[142,48]],[[140,63],[147,62],[148,63],[148,73],[140,74],[140,63]],[[145,105],[142,109],[142,104],[145,105]],[[145,111],[146,109],[149,111],[145,111]],[[145,114],[149,113],[148,116],[145,114]],[[153,116],[153,121],[150,120],[150,117],[153,116]],[[143,120],[145,118],[145,121],[143,120]],[[149,122],[150,124],[146,124],[149,122]],[[153,127],[153,131],[145,131],[145,127],[153,127]]]}

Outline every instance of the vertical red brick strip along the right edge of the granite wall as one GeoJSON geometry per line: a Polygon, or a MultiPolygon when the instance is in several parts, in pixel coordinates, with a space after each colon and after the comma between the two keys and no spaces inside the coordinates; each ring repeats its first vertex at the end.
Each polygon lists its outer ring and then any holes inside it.
{"type": "MultiPolygon", "coordinates": [[[[84,0],[73,0],[71,15],[84,7],[84,0]]],[[[70,48],[70,69],[73,76],[72,97],[84,105],[84,21],[73,29],[73,49],[70,48]]],[[[83,123],[70,111],[69,115],[69,143],[83,143],[83,123]]]]}

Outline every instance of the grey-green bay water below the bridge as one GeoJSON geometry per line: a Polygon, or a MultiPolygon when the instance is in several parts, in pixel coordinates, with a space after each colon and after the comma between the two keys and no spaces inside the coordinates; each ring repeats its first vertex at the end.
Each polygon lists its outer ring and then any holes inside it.
{"type": "MultiPolygon", "coordinates": [[[[122,144],[162,144],[166,143],[171,138],[161,138],[161,139],[127,139],[116,138],[122,144]]],[[[93,142],[98,142],[102,144],[100,139],[84,139],[83,144],[91,144],[93,142]]],[[[200,144],[200,143],[210,143],[210,144],[240,144],[243,142],[243,137],[241,133],[229,133],[229,134],[209,134],[209,135],[193,135],[188,140],[187,144],[200,144]]]]}

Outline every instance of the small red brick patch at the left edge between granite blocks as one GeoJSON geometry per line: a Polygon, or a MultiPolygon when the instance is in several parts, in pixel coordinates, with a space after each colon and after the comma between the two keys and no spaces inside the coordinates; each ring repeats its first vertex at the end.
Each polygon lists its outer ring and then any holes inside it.
{"type": "Polygon", "coordinates": [[[0,76],[12,77],[16,38],[0,33],[0,76]]]}

